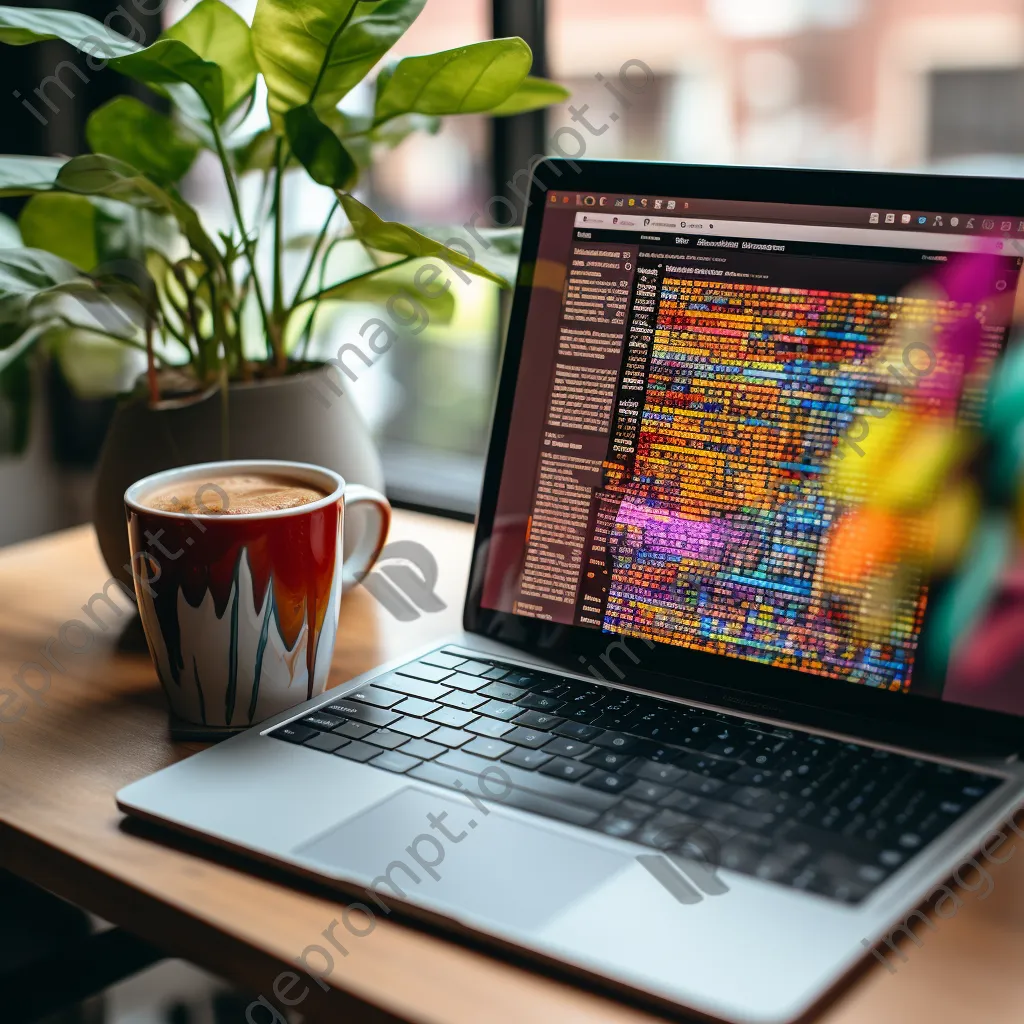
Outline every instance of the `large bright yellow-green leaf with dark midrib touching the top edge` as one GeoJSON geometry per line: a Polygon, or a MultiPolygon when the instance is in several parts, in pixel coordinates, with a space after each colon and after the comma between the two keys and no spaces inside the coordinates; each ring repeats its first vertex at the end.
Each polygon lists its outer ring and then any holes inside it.
{"type": "Polygon", "coordinates": [[[426,0],[259,0],[253,48],[275,131],[311,102],[333,110],[416,20],[426,0]]]}

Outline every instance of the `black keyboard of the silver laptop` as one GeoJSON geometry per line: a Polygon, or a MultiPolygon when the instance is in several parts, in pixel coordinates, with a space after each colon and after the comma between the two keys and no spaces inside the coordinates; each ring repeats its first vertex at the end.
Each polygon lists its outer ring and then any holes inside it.
{"type": "Polygon", "coordinates": [[[1000,782],[451,648],[270,735],[846,903],[1000,782]]]}

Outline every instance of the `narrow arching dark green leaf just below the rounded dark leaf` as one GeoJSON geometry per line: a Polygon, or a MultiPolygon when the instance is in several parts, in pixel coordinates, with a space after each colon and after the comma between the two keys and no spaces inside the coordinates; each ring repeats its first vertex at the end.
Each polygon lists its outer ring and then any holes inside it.
{"type": "Polygon", "coordinates": [[[130,164],[103,156],[76,157],[60,168],[56,183],[80,196],[102,196],[168,214],[178,222],[189,245],[208,266],[220,265],[220,253],[203,229],[196,211],[174,193],[139,174],[130,164]]]}

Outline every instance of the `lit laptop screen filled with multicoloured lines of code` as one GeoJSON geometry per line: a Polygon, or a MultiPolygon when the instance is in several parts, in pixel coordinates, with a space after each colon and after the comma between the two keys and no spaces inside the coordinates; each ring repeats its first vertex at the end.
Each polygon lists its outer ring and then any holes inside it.
{"type": "Polygon", "coordinates": [[[1017,238],[549,190],[481,605],[1024,713],[926,650],[935,452],[983,416],[1017,238]]]}

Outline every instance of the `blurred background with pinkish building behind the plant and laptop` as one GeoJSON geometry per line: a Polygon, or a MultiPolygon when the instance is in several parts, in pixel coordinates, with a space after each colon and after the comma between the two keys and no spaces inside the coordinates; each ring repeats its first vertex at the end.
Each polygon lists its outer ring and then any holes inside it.
{"type": "MultiPolygon", "coordinates": [[[[26,6],[102,17],[118,5],[26,6]]],[[[248,18],[255,0],[232,6],[248,18]]],[[[183,0],[169,0],[150,18],[132,13],[153,39],[159,22],[185,9],[183,0]]],[[[535,73],[568,86],[571,103],[591,104],[598,124],[616,110],[606,131],[588,135],[588,157],[985,174],[1018,174],[1022,166],[1024,0],[429,0],[394,55],[492,35],[525,38],[535,73]],[[653,79],[626,108],[595,76],[614,78],[630,59],[653,79]]],[[[139,88],[111,71],[87,86],[65,74],[63,91],[74,95],[60,97],[59,112],[42,125],[13,93],[73,56],[59,43],[5,50],[8,152],[86,152],[90,111],[139,88]]],[[[371,101],[356,91],[346,104],[371,101]]],[[[436,135],[413,135],[386,153],[366,198],[382,215],[414,224],[461,224],[474,214],[482,221],[485,202],[508,194],[515,171],[551,152],[552,133],[572,123],[567,105],[505,120],[449,119],[436,135]]],[[[257,101],[252,126],[265,117],[257,101]]],[[[216,168],[201,160],[187,198],[216,222],[226,214],[222,188],[216,168]]],[[[291,227],[303,230],[318,223],[328,200],[297,175],[286,202],[291,227]]],[[[16,203],[2,209],[16,215],[16,203]]],[[[311,354],[336,351],[368,315],[351,305],[338,310],[323,317],[311,354]]],[[[401,339],[351,388],[395,501],[472,515],[505,312],[498,289],[474,280],[460,290],[453,325],[401,339]]],[[[46,400],[29,452],[0,458],[0,544],[88,518],[90,471],[114,402],[73,396],[54,366],[41,369],[37,386],[46,400]]]]}

